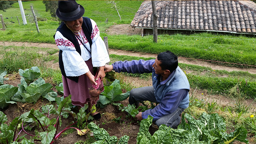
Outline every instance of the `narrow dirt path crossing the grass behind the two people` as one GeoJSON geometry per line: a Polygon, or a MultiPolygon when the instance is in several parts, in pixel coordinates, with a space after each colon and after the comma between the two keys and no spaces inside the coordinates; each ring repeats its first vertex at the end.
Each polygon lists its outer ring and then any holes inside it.
{"type": "MultiPolygon", "coordinates": [[[[15,46],[34,46],[34,47],[42,47],[42,48],[56,48],[56,44],[45,44],[45,43],[27,43],[27,42],[0,42],[0,45],[3,46],[9,46],[9,45],[15,45],[15,46]]],[[[129,55],[129,56],[136,56],[136,57],[153,57],[156,58],[156,54],[144,54],[144,53],[139,53],[139,52],[127,52],[127,51],[122,51],[122,50],[113,50],[109,49],[109,54],[117,54],[117,55],[129,55]]],[[[186,59],[186,58],[180,58],[179,57],[179,63],[185,63],[185,64],[193,64],[193,65],[199,65],[199,66],[204,66],[204,67],[210,67],[214,70],[227,70],[228,72],[230,71],[248,71],[251,74],[256,74],[256,69],[255,68],[236,68],[236,67],[225,67],[221,65],[216,65],[212,64],[207,61],[203,60],[191,60],[191,59],[186,59]]]]}

